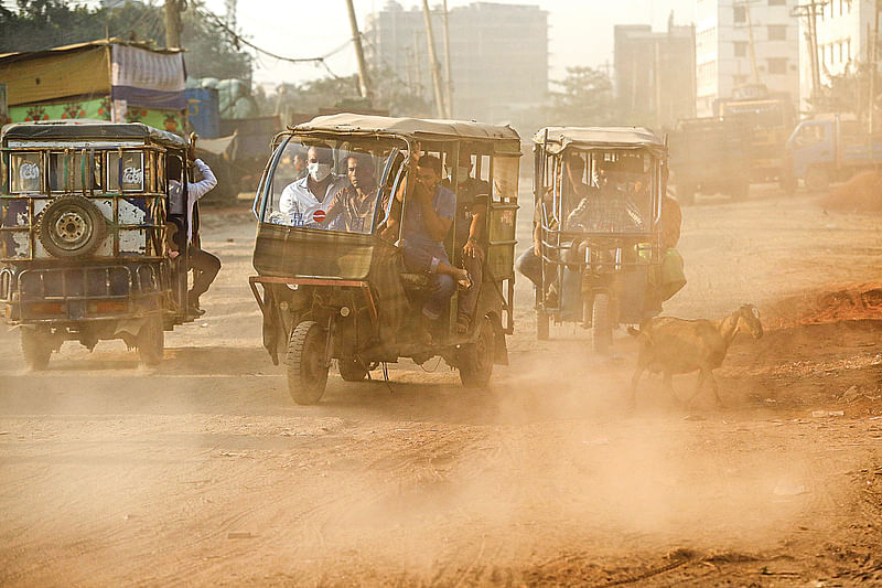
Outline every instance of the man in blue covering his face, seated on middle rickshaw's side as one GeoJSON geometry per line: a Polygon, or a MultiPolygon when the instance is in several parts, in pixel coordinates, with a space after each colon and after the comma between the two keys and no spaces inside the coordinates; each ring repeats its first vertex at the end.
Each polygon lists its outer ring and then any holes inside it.
{"type": "MultiPolygon", "coordinates": [[[[422,307],[419,339],[431,344],[431,322],[441,317],[448,300],[456,288],[471,286],[469,274],[450,265],[444,238],[453,223],[456,196],[440,185],[441,160],[434,156],[415,156],[417,181],[410,182],[405,205],[404,238],[401,248],[405,265],[410,271],[423,271],[430,277],[430,291],[422,307]]],[[[412,163],[411,163],[412,165],[412,163]]],[[[396,200],[402,197],[402,192],[396,200]]],[[[387,221],[387,231],[395,234],[397,221],[387,221]]]]}

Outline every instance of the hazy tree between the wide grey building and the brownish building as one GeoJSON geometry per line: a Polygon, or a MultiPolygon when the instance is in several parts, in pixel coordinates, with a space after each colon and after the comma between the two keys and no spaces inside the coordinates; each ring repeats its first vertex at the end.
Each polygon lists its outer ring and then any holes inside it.
{"type": "Polygon", "coordinates": [[[549,125],[585,127],[616,120],[613,84],[600,70],[567,67],[567,76],[551,83],[560,90],[551,92],[551,105],[546,110],[549,125]]]}

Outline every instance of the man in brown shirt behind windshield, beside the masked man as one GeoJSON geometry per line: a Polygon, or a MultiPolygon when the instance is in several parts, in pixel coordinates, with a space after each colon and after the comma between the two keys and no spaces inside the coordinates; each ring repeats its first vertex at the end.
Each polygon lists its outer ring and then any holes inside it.
{"type": "Polygon", "coordinates": [[[321,224],[348,233],[370,233],[378,190],[374,163],[369,156],[352,154],[346,158],[346,172],[351,185],[334,195],[321,224]]]}

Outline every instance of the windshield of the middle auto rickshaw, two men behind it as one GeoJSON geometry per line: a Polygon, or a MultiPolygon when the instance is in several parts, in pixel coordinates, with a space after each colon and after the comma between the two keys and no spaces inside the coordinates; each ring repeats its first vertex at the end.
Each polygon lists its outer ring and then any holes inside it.
{"type": "Polygon", "coordinates": [[[404,159],[388,141],[291,137],[277,150],[261,222],[372,234],[404,159]]]}

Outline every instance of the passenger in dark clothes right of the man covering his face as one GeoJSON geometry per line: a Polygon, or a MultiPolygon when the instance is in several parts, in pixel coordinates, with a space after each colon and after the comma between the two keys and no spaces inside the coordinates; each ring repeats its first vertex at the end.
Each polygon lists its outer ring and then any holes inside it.
{"type": "Polygon", "coordinates": [[[487,201],[490,184],[472,178],[472,158],[460,153],[456,170],[456,249],[462,252],[462,265],[469,272],[472,287],[460,295],[456,331],[465,333],[472,324],[477,295],[484,280],[486,259],[487,201]]]}

